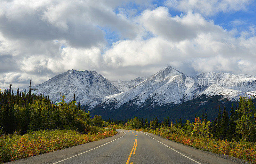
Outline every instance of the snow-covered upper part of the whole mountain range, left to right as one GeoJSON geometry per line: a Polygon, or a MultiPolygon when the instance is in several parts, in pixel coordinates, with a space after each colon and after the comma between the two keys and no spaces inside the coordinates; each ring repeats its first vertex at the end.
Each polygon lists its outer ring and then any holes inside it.
{"type": "Polygon", "coordinates": [[[178,105],[203,94],[207,97],[221,95],[230,100],[237,100],[240,96],[256,96],[255,76],[202,72],[192,76],[192,79],[197,80],[197,83],[198,79],[214,82],[206,81],[203,86],[195,83],[189,87],[185,84],[187,77],[172,66],[167,66],[148,78],[111,82],[96,71],[71,69],[35,87],[52,100],[60,96],[59,91],[67,100],[71,100],[75,94],[77,102],[87,105],[89,109],[97,105],[110,105],[116,109],[127,102],[137,106],[145,105],[146,102],[159,106],[169,103],[178,105]],[[230,83],[237,79],[243,80],[241,86],[230,83]]]}

